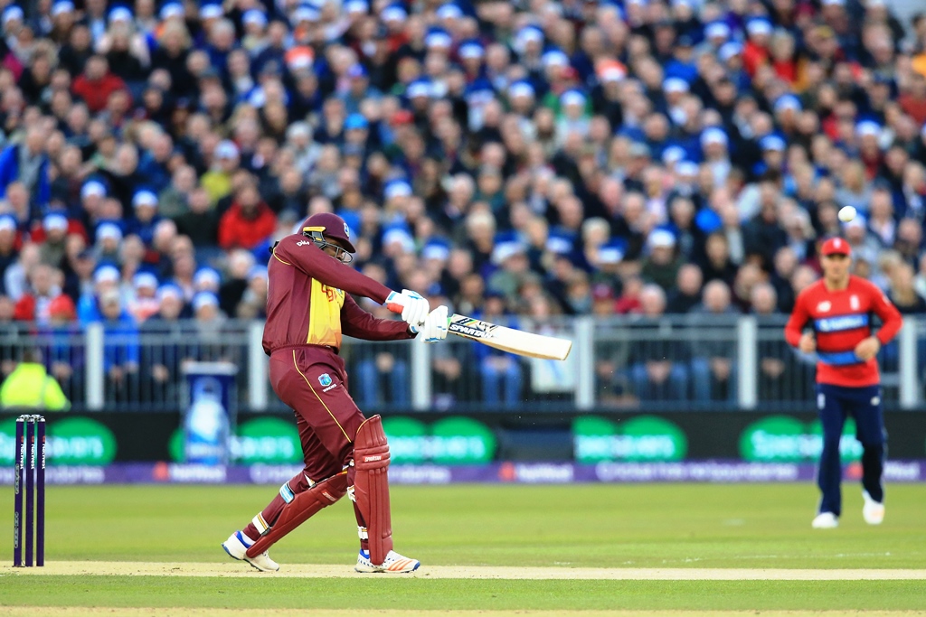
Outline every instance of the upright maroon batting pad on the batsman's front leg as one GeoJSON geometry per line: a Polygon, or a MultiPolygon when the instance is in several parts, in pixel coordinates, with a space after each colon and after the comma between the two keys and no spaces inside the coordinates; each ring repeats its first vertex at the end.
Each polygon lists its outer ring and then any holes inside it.
{"type": "Polygon", "coordinates": [[[357,429],[354,467],[357,508],[369,534],[369,561],[380,565],[393,549],[393,522],[389,512],[389,444],[379,415],[365,420],[357,429]]]}

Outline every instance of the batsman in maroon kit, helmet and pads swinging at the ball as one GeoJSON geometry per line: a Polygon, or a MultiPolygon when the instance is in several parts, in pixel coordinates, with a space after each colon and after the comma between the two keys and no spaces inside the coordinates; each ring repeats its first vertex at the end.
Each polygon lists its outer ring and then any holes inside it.
{"type": "Polygon", "coordinates": [[[364,417],[347,393],[338,352],[343,335],[444,339],[447,307],[432,311],[418,293],[389,290],[345,265],[355,253],[350,229],[331,213],[309,216],[302,233],[283,238],[271,252],[264,352],[273,391],[294,410],[306,466],[222,548],[257,570],[279,570],[267,549],[346,494],[354,502],[360,536],[357,572],[412,572],[419,561],[393,550],[389,446],[380,416],[364,417]],[[378,319],[349,294],[385,304],[403,321],[378,319]]]}

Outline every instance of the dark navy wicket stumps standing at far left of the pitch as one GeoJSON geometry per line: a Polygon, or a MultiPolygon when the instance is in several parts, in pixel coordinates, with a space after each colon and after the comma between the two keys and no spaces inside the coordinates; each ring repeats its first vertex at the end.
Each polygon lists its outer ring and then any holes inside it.
{"type": "Polygon", "coordinates": [[[45,562],[45,419],[43,416],[20,415],[17,418],[16,453],[16,471],[13,478],[13,506],[15,508],[13,512],[13,565],[32,566],[34,539],[35,565],[43,566],[45,562]],[[25,499],[23,499],[23,492],[25,492],[25,499]],[[26,536],[25,560],[23,560],[22,546],[23,526],[25,526],[26,536]]]}

